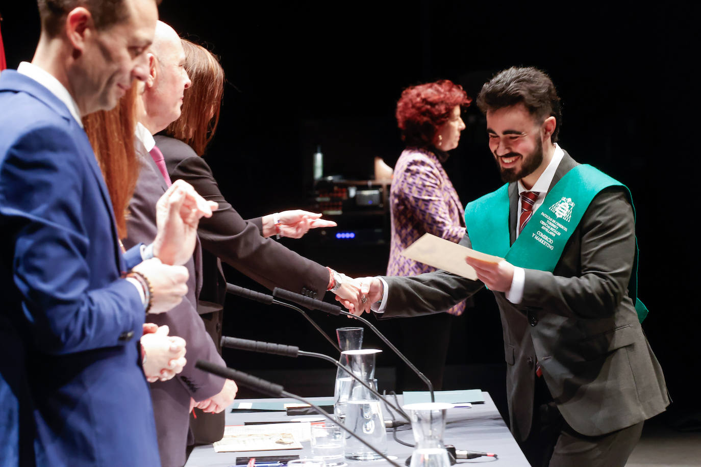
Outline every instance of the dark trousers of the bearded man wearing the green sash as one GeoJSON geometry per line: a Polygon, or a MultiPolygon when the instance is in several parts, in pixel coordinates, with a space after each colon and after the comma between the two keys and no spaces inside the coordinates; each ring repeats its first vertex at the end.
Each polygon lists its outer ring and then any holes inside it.
{"type": "Polygon", "coordinates": [[[578,433],[562,418],[543,378],[536,377],[531,433],[519,446],[533,467],[623,467],[643,423],[600,436],[578,433]]]}

